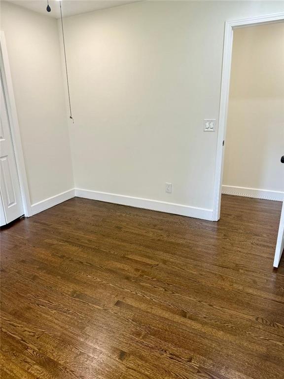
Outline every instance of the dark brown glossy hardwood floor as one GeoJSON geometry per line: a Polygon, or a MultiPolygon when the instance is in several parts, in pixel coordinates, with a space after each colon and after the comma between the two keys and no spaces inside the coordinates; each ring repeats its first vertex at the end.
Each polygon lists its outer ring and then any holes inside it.
{"type": "Polygon", "coordinates": [[[281,203],[74,198],[1,231],[1,379],[282,379],[281,203]]]}

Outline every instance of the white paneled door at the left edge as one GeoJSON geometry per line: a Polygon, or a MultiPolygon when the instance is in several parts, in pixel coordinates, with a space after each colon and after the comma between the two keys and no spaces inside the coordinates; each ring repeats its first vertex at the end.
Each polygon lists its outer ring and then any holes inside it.
{"type": "Polygon", "coordinates": [[[6,224],[24,214],[8,112],[0,72],[0,195],[6,224]]]}

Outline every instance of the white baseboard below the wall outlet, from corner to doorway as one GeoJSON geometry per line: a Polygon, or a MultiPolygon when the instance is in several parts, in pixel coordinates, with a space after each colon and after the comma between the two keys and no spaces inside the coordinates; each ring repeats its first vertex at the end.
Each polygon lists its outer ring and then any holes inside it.
{"type": "Polygon", "coordinates": [[[84,197],[86,199],[106,201],[121,205],[129,205],[131,207],[150,209],[152,211],[160,211],[173,213],[176,215],[194,217],[197,219],[212,221],[213,210],[205,208],[190,207],[166,201],[143,199],[141,197],[118,195],[115,193],[92,191],[89,189],[75,189],[75,196],[84,197]]]}

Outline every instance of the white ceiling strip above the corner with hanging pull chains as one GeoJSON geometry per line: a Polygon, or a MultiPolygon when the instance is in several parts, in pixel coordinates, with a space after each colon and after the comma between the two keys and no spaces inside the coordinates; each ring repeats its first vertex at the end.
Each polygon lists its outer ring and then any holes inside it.
{"type": "MultiPolygon", "coordinates": [[[[49,5],[51,12],[46,11],[47,0],[7,0],[16,5],[23,6],[24,8],[33,10],[38,13],[45,14],[49,17],[60,18],[60,6],[58,0],[50,0],[49,5]]],[[[130,4],[132,2],[139,2],[142,0],[62,0],[62,14],[63,17],[74,16],[75,14],[93,12],[99,9],[112,8],[130,4]]]]}

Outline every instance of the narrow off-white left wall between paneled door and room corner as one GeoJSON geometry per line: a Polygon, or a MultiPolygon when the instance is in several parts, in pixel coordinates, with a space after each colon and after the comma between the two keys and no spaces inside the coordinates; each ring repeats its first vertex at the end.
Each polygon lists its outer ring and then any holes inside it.
{"type": "Polygon", "coordinates": [[[32,204],[73,188],[57,20],[1,1],[32,204]]]}

